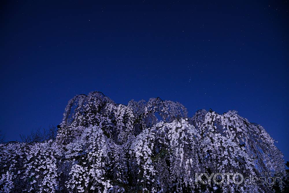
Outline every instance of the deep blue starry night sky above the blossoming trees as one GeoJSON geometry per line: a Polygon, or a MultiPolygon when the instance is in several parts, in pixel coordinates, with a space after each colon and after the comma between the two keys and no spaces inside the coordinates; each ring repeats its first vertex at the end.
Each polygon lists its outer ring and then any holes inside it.
{"type": "Polygon", "coordinates": [[[101,91],[178,101],[190,116],[236,110],[289,160],[286,1],[117,2],[2,2],[5,141],[58,125],[74,95],[101,91]]]}

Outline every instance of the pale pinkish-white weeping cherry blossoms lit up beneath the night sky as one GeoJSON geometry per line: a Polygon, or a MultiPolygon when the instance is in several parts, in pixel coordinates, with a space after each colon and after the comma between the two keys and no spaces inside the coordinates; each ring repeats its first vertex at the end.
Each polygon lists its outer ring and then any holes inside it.
{"type": "Polygon", "coordinates": [[[92,92],[68,102],[55,139],[0,145],[0,192],[273,192],[245,177],[283,179],[282,157],[236,111],[188,117],[178,102],[123,105],[92,92]],[[231,176],[196,182],[201,173],[231,176]]]}

